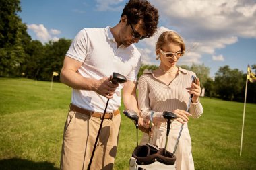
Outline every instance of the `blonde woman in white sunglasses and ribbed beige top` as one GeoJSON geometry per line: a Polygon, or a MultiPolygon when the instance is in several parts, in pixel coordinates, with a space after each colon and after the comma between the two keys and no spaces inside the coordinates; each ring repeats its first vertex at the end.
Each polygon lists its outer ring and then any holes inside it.
{"type": "MultiPolygon", "coordinates": [[[[163,32],[156,43],[156,55],[160,58],[160,66],[154,71],[144,71],[139,79],[139,111],[142,118],[150,118],[154,111],[154,131],[150,143],[164,148],[166,141],[166,120],[162,112],[171,111],[177,120],[171,124],[167,150],[173,152],[177,137],[184,124],[181,138],[175,153],[177,169],[194,169],[191,153],[191,138],[187,126],[189,116],[199,118],[203,107],[199,101],[201,93],[199,79],[192,83],[192,71],[177,67],[177,62],[185,53],[185,44],[176,32],[163,32]],[[189,112],[186,112],[189,97],[193,94],[189,112]]],[[[148,142],[148,134],[144,134],[140,144],[148,142]]]]}

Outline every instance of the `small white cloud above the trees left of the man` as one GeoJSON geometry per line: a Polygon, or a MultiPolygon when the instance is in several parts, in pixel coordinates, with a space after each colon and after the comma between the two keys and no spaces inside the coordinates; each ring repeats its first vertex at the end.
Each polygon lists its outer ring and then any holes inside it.
{"type": "Polygon", "coordinates": [[[40,40],[42,43],[48,42],[49,40],[57,41],[59,38],[53,35],[60,34],[61,31],[56,29],[51,29],[50,32],[47,28],[44,27],[43,24],[28,24],[29,30],[32,30],[36,34],[36,38],[40,40]]]}

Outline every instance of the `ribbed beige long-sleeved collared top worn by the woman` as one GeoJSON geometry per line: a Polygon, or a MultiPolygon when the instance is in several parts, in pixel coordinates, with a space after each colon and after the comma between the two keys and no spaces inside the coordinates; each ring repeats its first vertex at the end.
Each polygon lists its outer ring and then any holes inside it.
{"type": "MultiPolygon", "coordinates": [[[[139,111],[141,117],[150,118],[150,110],[154,110],[154,122],[166,122],[162,112],[176,109],[186,110],[189,103],[187,88],[191,87],[192,71],[179,67],[179,75],[166,85],[154,77],[152,71],[145,70],[139,79],[139,111]],[[160,119],[158,119],[160,118],[160,119]]],[[[200,102],[191,103],[189,113],[193,118],[199,118],[203,114],[200,102]]]]}

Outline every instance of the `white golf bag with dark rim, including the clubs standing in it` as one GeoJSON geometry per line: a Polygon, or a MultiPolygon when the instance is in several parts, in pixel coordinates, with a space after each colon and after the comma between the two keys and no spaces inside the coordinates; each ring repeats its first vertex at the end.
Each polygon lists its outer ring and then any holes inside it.
{"type": "MultiPolygon", "coordinates": [[[[124,110],[123,113],[125,116],[130,118],[131,120],[135,121],[136,128],[138,128],[138,119],[137,113],[133,110],[124,110]]],[[[152,118],[154,112],[151,112],[150,115],[150,130],[152,128],[152,118]]],[[[166,134],[166,144],[168,142],[168,135],[170,131],[170,120],[177,118],[175,114],[172,112],[164,112],[164,118],[168,120],[167,131],[166,134]]],[[[148,138],[150,142],[150,136],[148,138]]],[[[175,161],[176,157],[174,154],[170,153],[166,150],[166,148],[158,148],[158,146],[152,144],[146,145],[138,145],[134,149],[131,158],[130,158],[130,170],[139,170],[139,169],[146,169],[146,170],[155,170],[155,169],[168,169],[168,170],[175,170],[175,161]]]]}

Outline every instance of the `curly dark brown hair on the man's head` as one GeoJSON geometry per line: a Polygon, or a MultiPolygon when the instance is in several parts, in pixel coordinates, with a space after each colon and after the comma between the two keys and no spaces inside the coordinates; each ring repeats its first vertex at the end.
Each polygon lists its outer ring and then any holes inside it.
{"type": "Polygon", "coordinates": [[[130,0],[126,3],[121,17],[123,15],[126,15],[127,20],[132,24],[137,24],[143,19],[143,30],[146,31],[148,37],[153,36],[157,30],[158,9],[146,0],[130,0]]]}

